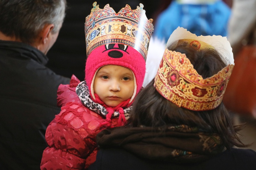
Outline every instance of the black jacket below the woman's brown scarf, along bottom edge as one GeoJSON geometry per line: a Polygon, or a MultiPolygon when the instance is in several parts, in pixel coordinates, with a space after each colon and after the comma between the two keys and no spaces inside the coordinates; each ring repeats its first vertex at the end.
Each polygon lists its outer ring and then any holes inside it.
{"type": "Polygon", "coordinates": [[[255,170],[256,152],[249,149],[226,150],[200,163],[175,164],[143,159],[124,149],[101,149],[89,170],[255,170]]]}

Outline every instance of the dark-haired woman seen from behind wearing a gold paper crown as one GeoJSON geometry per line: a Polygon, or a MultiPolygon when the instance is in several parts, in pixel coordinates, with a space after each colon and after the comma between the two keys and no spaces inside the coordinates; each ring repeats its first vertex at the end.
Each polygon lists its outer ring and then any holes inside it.
{"type": "Polygon", "coordinates": [[[90,170],[255,169],[255,151],[233,148],[246,145],[222,103],[234,66],[226,37],[177,28],[167,47],[126,127],[97,135],[90,170]]]}

